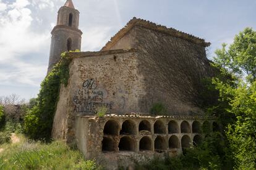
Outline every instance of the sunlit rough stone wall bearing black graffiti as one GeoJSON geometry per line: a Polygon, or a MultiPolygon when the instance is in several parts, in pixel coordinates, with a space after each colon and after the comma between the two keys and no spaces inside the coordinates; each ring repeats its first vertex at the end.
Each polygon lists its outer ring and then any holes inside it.
{"type": "Polygon", "coordinates": [[[70,57],[69,83],[61,86],[52,134],[75,144],[75,116],[95,115],[99,107],[110,113],[138,111],[145,92],[136,51],[77,52],[70,57]]]}

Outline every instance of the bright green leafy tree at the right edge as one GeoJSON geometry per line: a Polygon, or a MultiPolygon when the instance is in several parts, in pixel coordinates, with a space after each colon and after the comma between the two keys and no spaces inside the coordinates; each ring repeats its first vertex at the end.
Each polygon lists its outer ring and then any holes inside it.
{"type": "Polygon", "coordinates": [[[212,79],[219,92],[218,105],[228,102],[220,115],[233,115],[226,121],[226,137],[237,169],[256,168],[256,32],[245,28],[226,50],[216,50],[214,64],[220,75],[212,79]],[[228,81],[223,79],[231,75],[228,81]],[[244,80],[247,79],[247,81],[244,80]]]}

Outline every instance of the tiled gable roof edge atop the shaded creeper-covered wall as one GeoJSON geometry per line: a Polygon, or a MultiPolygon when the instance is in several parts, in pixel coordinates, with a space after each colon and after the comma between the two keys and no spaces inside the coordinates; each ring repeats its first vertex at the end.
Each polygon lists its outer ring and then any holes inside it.
{"type": "Polygon", "coordinates": [[[148,20],[142,20],[140,18],[132,18],[124,28],[119,30],[111,39],[106,43],[106,45],[101,49],[101,51],[109,50],[111,47],[116,44],[119,39],[121,39],[124,35],[126,35],[134,26],[142,26],[143,28],[148,28],[150,30],[158,31],[160,33],[169,34],[171,36],[175,36],[177,38],[185,39],[190,42],[194,42],[195,44],[200,44],[203,47],[210,46],[210,42],[205,42],[204,39],[193,36],[192,34],[184,33],[182,31],[178,31],[174,28],[167,28],[163,25],[157,25],[156,23],[150,22],[148,20]]]}

